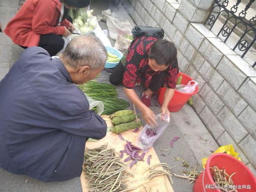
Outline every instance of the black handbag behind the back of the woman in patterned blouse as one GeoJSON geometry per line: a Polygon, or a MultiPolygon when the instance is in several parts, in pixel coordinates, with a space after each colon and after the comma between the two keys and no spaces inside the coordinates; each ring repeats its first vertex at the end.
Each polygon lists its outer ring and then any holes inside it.
{"type": "Polygon", "coordinates": [[[133,38],[140,36],[153,36],[158,39],[164,38],[164,30],[159,27],[149,27],[149,26],[135,26],[131,33],[133,35],[133,38]]]}

